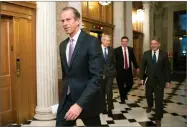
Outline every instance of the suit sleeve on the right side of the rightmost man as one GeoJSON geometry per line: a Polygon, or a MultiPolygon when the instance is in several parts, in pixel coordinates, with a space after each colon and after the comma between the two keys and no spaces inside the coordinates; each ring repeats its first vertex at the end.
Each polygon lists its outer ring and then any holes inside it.
{"type": "Polygon", "coordinates": [[[171,67],[170,67],[167,53],[166,53],[166,59],[165,59],[165,73],[166,73],[166,82],[170,82],[171,67]]]}

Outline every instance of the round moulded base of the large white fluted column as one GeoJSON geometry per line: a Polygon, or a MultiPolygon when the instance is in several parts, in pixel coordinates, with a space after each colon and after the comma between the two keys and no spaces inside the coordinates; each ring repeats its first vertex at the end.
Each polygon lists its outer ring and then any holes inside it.
{"type": "Polygon", "coordinates": [[[56,114],[52,113],[50,108],[38,108],[35,109],[36,114],[34,116],[37,120],[54,120],[56,118],[56,114]]]}

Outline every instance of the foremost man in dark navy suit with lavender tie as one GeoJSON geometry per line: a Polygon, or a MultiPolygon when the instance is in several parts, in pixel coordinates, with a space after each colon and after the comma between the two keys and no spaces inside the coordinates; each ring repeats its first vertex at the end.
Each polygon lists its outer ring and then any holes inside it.
{"type": "Polygon", "coordinates": [[[63,81],[56,126],[100,126],[101,79],[104,68],[100,41],[80,30],[80,13],[73,7],[61,12],[62,26],[69,37],[59,47],[63,81]]]}

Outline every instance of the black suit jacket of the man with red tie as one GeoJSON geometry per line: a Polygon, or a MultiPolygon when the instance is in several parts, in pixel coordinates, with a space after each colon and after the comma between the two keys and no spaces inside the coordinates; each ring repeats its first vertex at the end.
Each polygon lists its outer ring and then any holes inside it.
{"type": "MultiPolygon", "coordinates": [[[[135,68],[138,68],[138,64],[136,62],[133,48],[131,48],[129,46],[127,48],[128,48],[128,52],[129,52],[129,69],[132,70],[131,63],[133,63],[135,68]]],[[[116,48],[114,51],[115,51],[115,56],[116,56],[116,70],[117,70],[117,72],[120,72],[120,71],[124,70],[124,57],[123,57],[122,47],[120,46],[120,47],[116,48]]]]}

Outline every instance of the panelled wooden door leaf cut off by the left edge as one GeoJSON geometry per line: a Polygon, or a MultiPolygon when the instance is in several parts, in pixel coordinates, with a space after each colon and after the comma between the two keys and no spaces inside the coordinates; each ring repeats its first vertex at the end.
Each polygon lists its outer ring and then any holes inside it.
{"type": "Polygon", "coordinates": [[[0,121],[7,124],[13,121],[12,112],[12,19],[1,17],[0,20],[0,121]]]}

